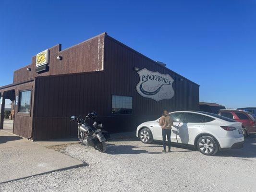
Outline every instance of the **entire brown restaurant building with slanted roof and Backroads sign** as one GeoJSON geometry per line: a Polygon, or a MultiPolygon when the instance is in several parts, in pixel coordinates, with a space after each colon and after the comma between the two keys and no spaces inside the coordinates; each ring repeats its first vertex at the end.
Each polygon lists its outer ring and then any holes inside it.
{"type": "MultiPolygon", "coordinates": [[[[61,44],[56,45],[47,54],[47,64],[36,65],[39,59],[34,56],[31,64],[14,72],[13,84],[0,87],[2,106],[7,98],[13,101],[14,134],[33,140],[75,136],[76,124],[70,121],[70,116],[84,117],[92,110],[98,112],[98,120],[105,129],[125,132],[135,131],[144,121],[157,119],[163,108],[199,109],[198,84],[107,33],[64,50],[61,44]],[[148,78],[140,77],[143,69],[148,78]],[[147,96],[139,94],[137,84],[141,78],[148,80],[147,85],[139,87],[144,87],[140,90],[147,96]],[[149,87],[153,81],[157,84],[149,87]],[[168,92],[163,92],[167,89],[168,92]],[[170,99],[150,98],[165,98],[168,94],[170,99]]],[[[4,107],[1,109],[0,129],[4,107]]]]}

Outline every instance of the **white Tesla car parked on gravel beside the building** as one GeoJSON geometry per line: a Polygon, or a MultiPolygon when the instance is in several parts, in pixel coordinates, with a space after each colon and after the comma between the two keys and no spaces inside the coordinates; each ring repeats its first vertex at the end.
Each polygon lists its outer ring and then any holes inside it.
{"type": "MultiPolygon", "coordinates": [[[[244,135],[240,122],[202,111],[175,111],[170,116],[174,121],[171,129],[173,143],[194,145],[208,156],[219,150],[243,147],[244,135]]],[[[162,141],[159,119],[144,122],[137,127],[136,135],[143,143],[162,141]]]]}

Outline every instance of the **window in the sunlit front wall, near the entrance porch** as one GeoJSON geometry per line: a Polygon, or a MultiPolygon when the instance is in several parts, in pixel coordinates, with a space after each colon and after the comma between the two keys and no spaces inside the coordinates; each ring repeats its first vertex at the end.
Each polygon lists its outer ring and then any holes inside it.
{"type": "Polygon", "coordinates": [[[30,113],[31,90],[20,92],[19,112],[30,113]]]}

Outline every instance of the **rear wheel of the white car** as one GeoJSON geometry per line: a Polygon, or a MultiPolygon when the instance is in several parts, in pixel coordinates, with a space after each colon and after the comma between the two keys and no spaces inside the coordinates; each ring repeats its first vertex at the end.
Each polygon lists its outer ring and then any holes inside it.
{"type": "Polygon", "coordinates": [[[202,136],[197,141],[197,149],[206,156],[213,156],[219,151],[219,146],[213,137],[202,136]]]}

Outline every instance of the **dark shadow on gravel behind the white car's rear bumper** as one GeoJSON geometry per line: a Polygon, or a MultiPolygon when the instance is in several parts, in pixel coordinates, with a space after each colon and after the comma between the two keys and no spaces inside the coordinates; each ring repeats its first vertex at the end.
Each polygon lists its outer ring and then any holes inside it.
{"type": "Polygon", "coordinates": [[[254,134],[246,137],[244,142],[244,147],[242,149],[231,149],[229,151],[220,151],[215,156],[256,158],[256,135],[254,134]]]}

